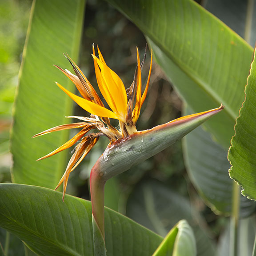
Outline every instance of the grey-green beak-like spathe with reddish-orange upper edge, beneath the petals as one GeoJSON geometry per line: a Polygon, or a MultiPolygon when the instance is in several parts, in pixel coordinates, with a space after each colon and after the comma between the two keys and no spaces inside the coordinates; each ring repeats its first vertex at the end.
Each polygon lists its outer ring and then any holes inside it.
{"type": "Polygon", "coordinates": [[[220,108],[185,116],[117,140],[108,145],[92,168],[92,172],[99,172],[103,180],[125,172],[180,140],[223,108],[221,105],[220,108]]]}

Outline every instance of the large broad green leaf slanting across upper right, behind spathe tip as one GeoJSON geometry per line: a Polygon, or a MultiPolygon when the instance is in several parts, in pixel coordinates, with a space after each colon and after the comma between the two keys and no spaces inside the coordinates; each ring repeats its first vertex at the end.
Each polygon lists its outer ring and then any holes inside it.
{"type": "Polygon", "coordinates": [[[252,48],[192,0],[108,2],[146,35],[157,62],[193,112],[225,105],[207,126],[228,148],[244,100],[252,48]]]}

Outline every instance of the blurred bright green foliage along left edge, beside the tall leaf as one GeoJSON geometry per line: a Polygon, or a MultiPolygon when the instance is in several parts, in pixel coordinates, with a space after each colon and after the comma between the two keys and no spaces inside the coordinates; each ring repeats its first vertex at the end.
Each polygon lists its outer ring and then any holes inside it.
{"type": "Polygon", "coordinates": [[[32,0],[0,1],[0,182],[10,182],[9,128],[32,0]]]}

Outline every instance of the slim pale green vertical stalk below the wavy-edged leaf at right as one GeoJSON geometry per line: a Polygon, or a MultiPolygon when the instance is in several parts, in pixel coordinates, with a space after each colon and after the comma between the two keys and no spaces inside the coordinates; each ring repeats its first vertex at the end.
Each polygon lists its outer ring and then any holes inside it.
{"type": "Polygon", "coordinates": [[[240,209],[240,186],[234,181],[233,184],[233,205],[230,223],[230,256],[238,255],[238,225],[239,225],[239,209],[240,209]]]}

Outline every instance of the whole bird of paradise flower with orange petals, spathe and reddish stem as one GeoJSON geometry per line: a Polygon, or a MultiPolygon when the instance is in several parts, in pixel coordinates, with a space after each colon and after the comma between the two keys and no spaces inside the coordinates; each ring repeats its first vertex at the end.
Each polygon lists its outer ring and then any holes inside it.
{"type": "Polygon", "coordinates": [[[48,155],[38,159],[45,159],[66,148],[70,148],[80,140],[75,147],[75,152],[68,162],[64,175],[56,186],[57,189],[63,183],[63,200],[70,172],[80,164],[99,140],[100,136],[107,136],[109,138],[110,143],[108,147],[97,160],[90,174],[94,250],[95,255],[106,255],[104,241],[104,185],[106,181],[111,177],[128,170],[133,165],[148,159],[164,148],[167,148],[204,121],[208,120],[208,118],[220,112],[224,107],[221,104],[219,108],[180,117],[150,130],[138,132],[136,129],[136,122],[148,92],[152,71],[152,51],[148,80],[144,92],[142,93],[141,68],[145,61],[146,52],[143,61],[140,63],[139,51],[137,48],[137,67],[134,79],[131,86],[128,89],[125,89],[120,77],[117,76],[117,74],[105,63],[98,47],[97,50],[99,57],[95,54],[94,46],[92,47],[96,79],[100,92],[111,110],[105,108],[103,102],[100,100],[100,97],[86,76],[84,76],[80,68],[66,54],[65,56],[72,65],[76,75],[68,70],[55,66],[72,80],[82,97],[69,92],[57,82],[56,84],[71,97],[72,100],[80,105],[80,107],[91,113],[91,116],[69,116],[81,120],[82,122],[56,126],[44,132],[40,132],[34,137],[49,132],[81,128],[80,132],[65,144],[48,155]],[[119,129],[111,125],[110,118],[119,120],[119,129]],[[97,129],[98,132],[90,132],[92,129],[97,129]],[[108,158],[111,159],[111,164],[109,163],[110,161],[107,161],[108,158]]]}

